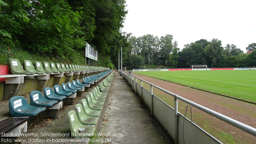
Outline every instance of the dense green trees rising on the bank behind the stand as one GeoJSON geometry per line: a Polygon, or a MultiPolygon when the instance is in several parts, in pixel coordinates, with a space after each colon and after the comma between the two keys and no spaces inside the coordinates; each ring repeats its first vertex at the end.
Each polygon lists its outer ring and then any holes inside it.
{"type": "Polygon", "coordinates": [[[43,60],[81,64],[88,42],[99,55],[91,64],[113,68],[111,62],[129,37],[119,31],[126,14],[125,0],[0,0],[0,50],[6,54],[1,53],[1,64],[17,49],[43,60]]]}

